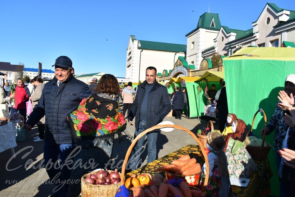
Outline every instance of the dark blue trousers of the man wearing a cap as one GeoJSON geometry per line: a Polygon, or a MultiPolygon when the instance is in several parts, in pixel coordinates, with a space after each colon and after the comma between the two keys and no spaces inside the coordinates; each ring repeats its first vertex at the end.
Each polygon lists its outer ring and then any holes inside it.
{"type": "Polygon", "coordinates": [[[69,167],[72,167],[72,165],[65,165],[61,168],[58,165],[54,167],[54,163],[57,163],[57,158],[59,155],[61,160],[59,164],[63,164],[72,150],[73,144],[52,144],[44,142],[44,164],[46,165],[50,162],[53,163],[52,165],[48,164],[48,167],[45,167],[50,180],[53,181],[53,184],[58,186],[53,191],[58,193],[58,196],[67,196],[68,184],[64,184],[61,187],[61,182],[70,178],[71,169],[69,169],[69,167]],[[60,173],[60,175],[55,177],[58,173],[60,173]],[[60,182],[58,182],[58,179],[60,179],[60,182]]]}

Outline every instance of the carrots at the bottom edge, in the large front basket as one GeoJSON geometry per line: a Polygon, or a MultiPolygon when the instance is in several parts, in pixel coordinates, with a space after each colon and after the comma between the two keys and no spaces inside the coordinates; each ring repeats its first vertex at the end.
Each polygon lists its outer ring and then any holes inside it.
{"type": "Polygon", "coordinates": [[[198,190],[191,190],[188,184],[184,181],[179,183],[179,187],[175,187],[168,183],[162,183],[159,189],[156,186],[151,186],[149,189],[137,187],[133,192],[135,197],[205,197],[205,193],[198,190]]]}

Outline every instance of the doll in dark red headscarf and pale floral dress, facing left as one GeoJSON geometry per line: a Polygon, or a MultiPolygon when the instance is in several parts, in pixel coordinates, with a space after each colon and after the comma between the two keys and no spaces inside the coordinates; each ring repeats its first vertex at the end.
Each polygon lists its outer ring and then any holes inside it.
{"type": "Polygon", "coordinates": [[[232,130],[234,133],[226,140],[227,169],[230,177],[248,178],[251,172],[245,143],[249,130],[242,119],[233,121],[232,130]]]}

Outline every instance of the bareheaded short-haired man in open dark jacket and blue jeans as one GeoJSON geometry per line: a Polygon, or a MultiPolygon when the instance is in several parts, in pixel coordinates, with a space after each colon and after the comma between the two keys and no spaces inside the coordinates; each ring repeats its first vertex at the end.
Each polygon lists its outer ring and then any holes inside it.
{"type": "MultiPolygon", "coordinates": [[[[142,131],[153,127],[163,121],[165,116],[171,111],[171,100],[167,88],[156,81],[157,70],[155,67],[148,67],[145,72],[145,81],[138,86],[136,97],[131,111],[128,115],[128,122],[133,125],[132,120],[135,117],[134,139],[142,131]]],[[[158,131],[147,134],[148,139],[148,161],[150,163],[156,159],[156,142],[158,131]]],[[[132,149],[130,159],[130,168],[136,169],[140,159],[142,145],[145,135],[140,138],[132,149]]]]}

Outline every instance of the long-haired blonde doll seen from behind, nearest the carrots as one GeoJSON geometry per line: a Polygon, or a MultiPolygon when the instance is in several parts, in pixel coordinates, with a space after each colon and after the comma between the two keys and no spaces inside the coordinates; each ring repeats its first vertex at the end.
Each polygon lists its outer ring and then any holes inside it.
{"type": "MultiPolygon", "coordinates": [[[[230,190],[230,179],[227,170],[226,155],[223,152],[224,139],[220,133],[210,132],[207,135],[207,148],[209,162],[209,181],[206,186],[206,197],[228,196],[230,190]]],[[[200,181],[200,186],[204,185],[206,175],[206,163],[203,165],[204,171],[200,181]]]]}

